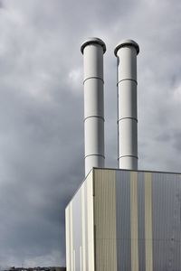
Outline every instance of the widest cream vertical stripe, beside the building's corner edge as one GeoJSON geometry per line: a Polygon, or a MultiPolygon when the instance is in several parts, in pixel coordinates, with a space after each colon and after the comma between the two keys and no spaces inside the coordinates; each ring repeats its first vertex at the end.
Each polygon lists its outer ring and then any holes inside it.
{"type": "Polygon", "coordinates": [[[115,171],[95,170],[96,271],[117,271],[115,171]]]}

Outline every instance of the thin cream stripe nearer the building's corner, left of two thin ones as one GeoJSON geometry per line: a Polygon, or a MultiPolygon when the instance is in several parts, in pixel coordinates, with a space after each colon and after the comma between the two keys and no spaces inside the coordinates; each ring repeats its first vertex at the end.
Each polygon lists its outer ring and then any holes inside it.
{"type": "Polygon", "coordinates": [[[131,270],[138,271],[138,173],[130,173],[131,270]]]}

